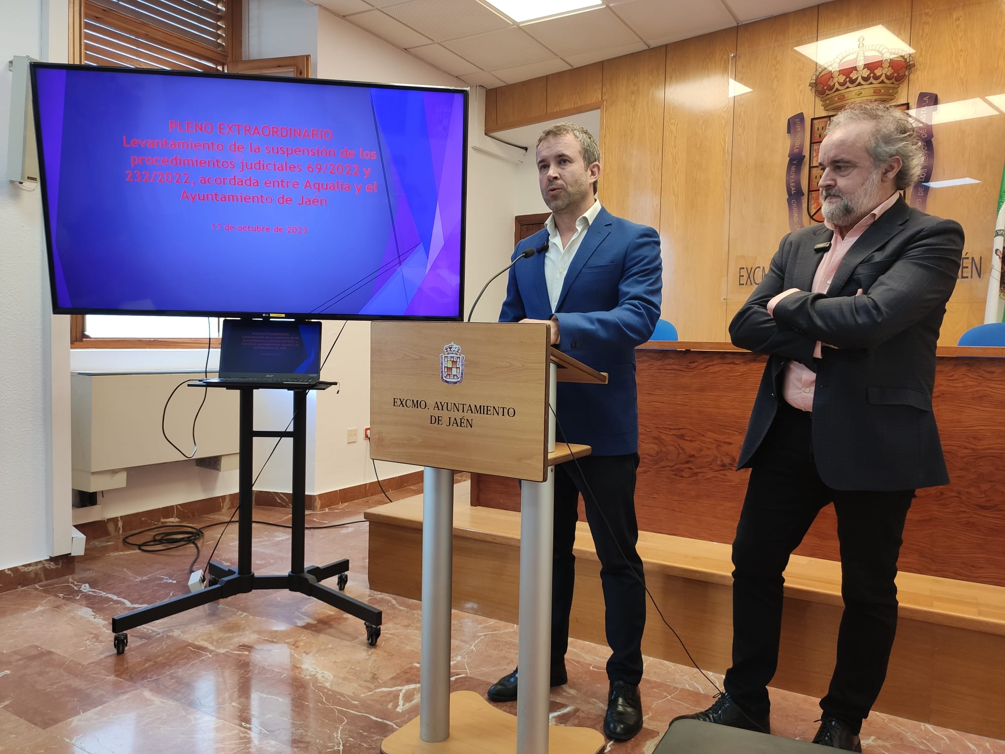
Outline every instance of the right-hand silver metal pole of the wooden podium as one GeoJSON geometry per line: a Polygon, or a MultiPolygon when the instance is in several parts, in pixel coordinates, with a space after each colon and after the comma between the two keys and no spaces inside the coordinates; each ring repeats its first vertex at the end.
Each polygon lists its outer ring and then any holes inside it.
{"type": "MultiPolygon", "coordinates": [[[[555,449],[556,367],[551,365],[548,449],[555,449]]],[[[552,653],[552,549],[555,467],[545,482],[521,484],[520,648],[517,676],[517,751],[547,754],[552,653]]]]}

